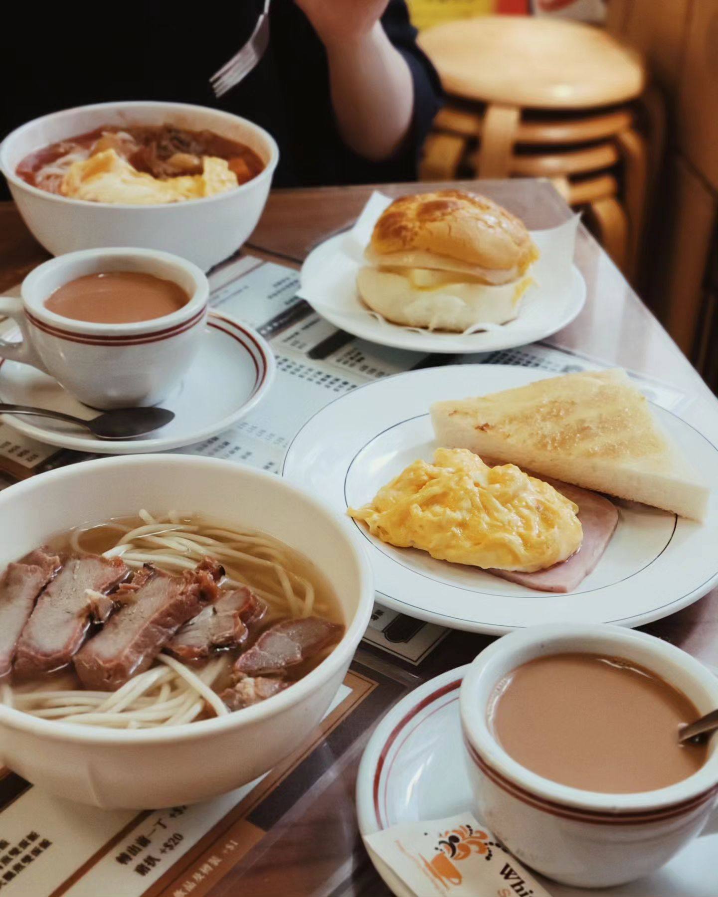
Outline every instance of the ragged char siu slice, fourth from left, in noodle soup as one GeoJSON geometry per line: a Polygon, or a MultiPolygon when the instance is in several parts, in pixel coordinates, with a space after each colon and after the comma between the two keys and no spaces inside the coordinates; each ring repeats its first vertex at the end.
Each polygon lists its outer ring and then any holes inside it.
{"type": "Polygon", "coordinates": [[[214,605],[182,626],[167,650],[180,660],[204,660],[215,649],[241,645],[266,613],[265,602],[246,586],[220,592],[214,605]]]}

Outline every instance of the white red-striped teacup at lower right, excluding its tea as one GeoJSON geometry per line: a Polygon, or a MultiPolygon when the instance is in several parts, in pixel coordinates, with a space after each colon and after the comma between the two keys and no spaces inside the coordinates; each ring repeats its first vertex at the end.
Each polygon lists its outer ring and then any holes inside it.
{"type": "Polygon", "coordinates": [[[718,738],[698,771],[655,791],[602,794],[531,772],[493,736],[489,697],[517,666],[570,651],[633,660],[684,692],[701,714],[718,707],[718,677],[668,642],[605,624],[531,626],[495,641],[468,669],[460,715],[477,818],[527,866],[558,882],[624,884],[667,863],[705,828],[718,794],[718,738]]]}

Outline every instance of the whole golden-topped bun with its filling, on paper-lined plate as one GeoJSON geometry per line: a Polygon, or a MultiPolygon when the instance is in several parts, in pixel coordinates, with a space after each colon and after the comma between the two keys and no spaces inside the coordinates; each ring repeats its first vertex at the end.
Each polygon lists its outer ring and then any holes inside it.
{"type": "Polygon", "coordinates": [[[464,331],[517,317],[538,249],[486,196],[439,190],[395,200],[374,225],[357,275],[363,301],[409,327],[464,331]]]}

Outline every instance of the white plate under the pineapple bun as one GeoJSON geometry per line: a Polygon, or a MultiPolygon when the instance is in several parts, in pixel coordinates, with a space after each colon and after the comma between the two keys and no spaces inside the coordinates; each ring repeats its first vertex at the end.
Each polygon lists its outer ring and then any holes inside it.
{"type": "Polygon", "coordinates": [[[352,257],[339,252],[346,234],[330,237],[312,249],[304,260],[300,278],[302,285],[322,274],[320,294],[300,295],[320,315],[347,333],[391,345],[397,349],[411,349],[424,353],[495,352],[515,345],[535,343],[545,339],[574,320],[586,300],[586,282],[578,268],[572,266],[570,287],[565,292],[530,290],[516,320],[495,330],[477,334],[433,333],[390,324],[368,314],[356,292],[356,273],[359,264],[352,257]],[[316,304],[315,304],[316,303],[316,304]]]}

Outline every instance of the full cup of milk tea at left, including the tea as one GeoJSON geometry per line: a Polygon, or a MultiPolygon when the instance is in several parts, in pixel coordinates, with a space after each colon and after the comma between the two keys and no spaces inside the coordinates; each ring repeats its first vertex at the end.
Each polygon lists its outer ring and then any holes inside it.
{"type": "Polygon", "coordinates": [[[191,262],[152,249],[70,252],[35,268],[22,298],[0,299],[22,340],[0,357],[39,368],[85,405],[157,405],[205,330],[209,284],[191,262]]]}

